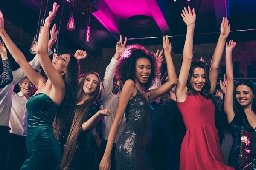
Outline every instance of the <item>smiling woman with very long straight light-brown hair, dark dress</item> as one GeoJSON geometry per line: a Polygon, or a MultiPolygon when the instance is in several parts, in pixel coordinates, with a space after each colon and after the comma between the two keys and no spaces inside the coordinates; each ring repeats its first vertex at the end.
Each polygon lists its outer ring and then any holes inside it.
{"type": "Polygon", "coordinates": [[[100,77],[89,72],[79,80],[76,106],[54,123],[55,136],[62,150],[61,170],[89,170],[87,132],[100,115],[109,116],[109,109],[100,110],[95,101],[99,96],[100,77]]]}

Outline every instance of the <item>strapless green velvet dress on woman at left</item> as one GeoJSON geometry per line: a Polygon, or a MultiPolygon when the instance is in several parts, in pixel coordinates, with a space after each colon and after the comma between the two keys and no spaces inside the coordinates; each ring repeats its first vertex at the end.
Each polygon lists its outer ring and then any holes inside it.
{"type": "Polygon", "coordinates": [[[58,170],[61,147],[52,131],[59,106],[44,93],[32,96],[27,104],[28,155],[21,170],[58,170]]]}

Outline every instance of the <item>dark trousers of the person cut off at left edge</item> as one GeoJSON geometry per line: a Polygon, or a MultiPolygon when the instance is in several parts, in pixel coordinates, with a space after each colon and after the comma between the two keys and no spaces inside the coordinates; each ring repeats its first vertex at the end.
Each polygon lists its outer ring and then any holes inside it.
{"type": "Polygon", "coordinates": [[[11,143],[10,130],[9,126],[0,126],[0,170],[7,170],[11,143]]]}

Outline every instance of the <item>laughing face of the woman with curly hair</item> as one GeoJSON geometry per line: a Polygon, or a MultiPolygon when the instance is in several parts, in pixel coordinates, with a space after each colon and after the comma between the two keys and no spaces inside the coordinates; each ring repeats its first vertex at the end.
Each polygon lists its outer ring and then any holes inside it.
{"type": "Polygon", "coordinates": [[[151,63],[147,58],[139,58],[135,66],[135,79],[140,84],[145,84],[151,74],[151,63]]]}

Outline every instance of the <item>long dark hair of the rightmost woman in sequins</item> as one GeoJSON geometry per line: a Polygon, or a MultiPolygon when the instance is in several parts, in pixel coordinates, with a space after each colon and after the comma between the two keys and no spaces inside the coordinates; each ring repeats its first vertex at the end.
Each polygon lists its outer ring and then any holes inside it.
{"type": "MultiPolygon", "coordinates": [[[[255,83],[252,81],[252,80],[243,80],[239,83],[236,84],[235,88],[234,88],[234,93],[233,93],[233,110],[235,112],[235,118],[234,118],[234,121],[235,121],[235,124],[238,125],[238,126],[244,126],[244,128],[247,130],[247,131],[253,131],[253,128],[250,126],[250,123],[248,122],[248,119],[247,119],[247,116],[244,112],[244,108],[243,106],[241,106],[239,104],[239,102],[237,101],[236,99],[236,88],[239,86],[239,85],[246,85],[248,86],[252,92],[253,92],[253,95],[255,96],[255,92],[256,92],[256,85],[255,83]]],[[[252,103],[252,110],[256,111],[256,101],[253,99],[253,103],[252,103]]],[[[255,113],[256,114],[256,113],[255,113]]]]}

